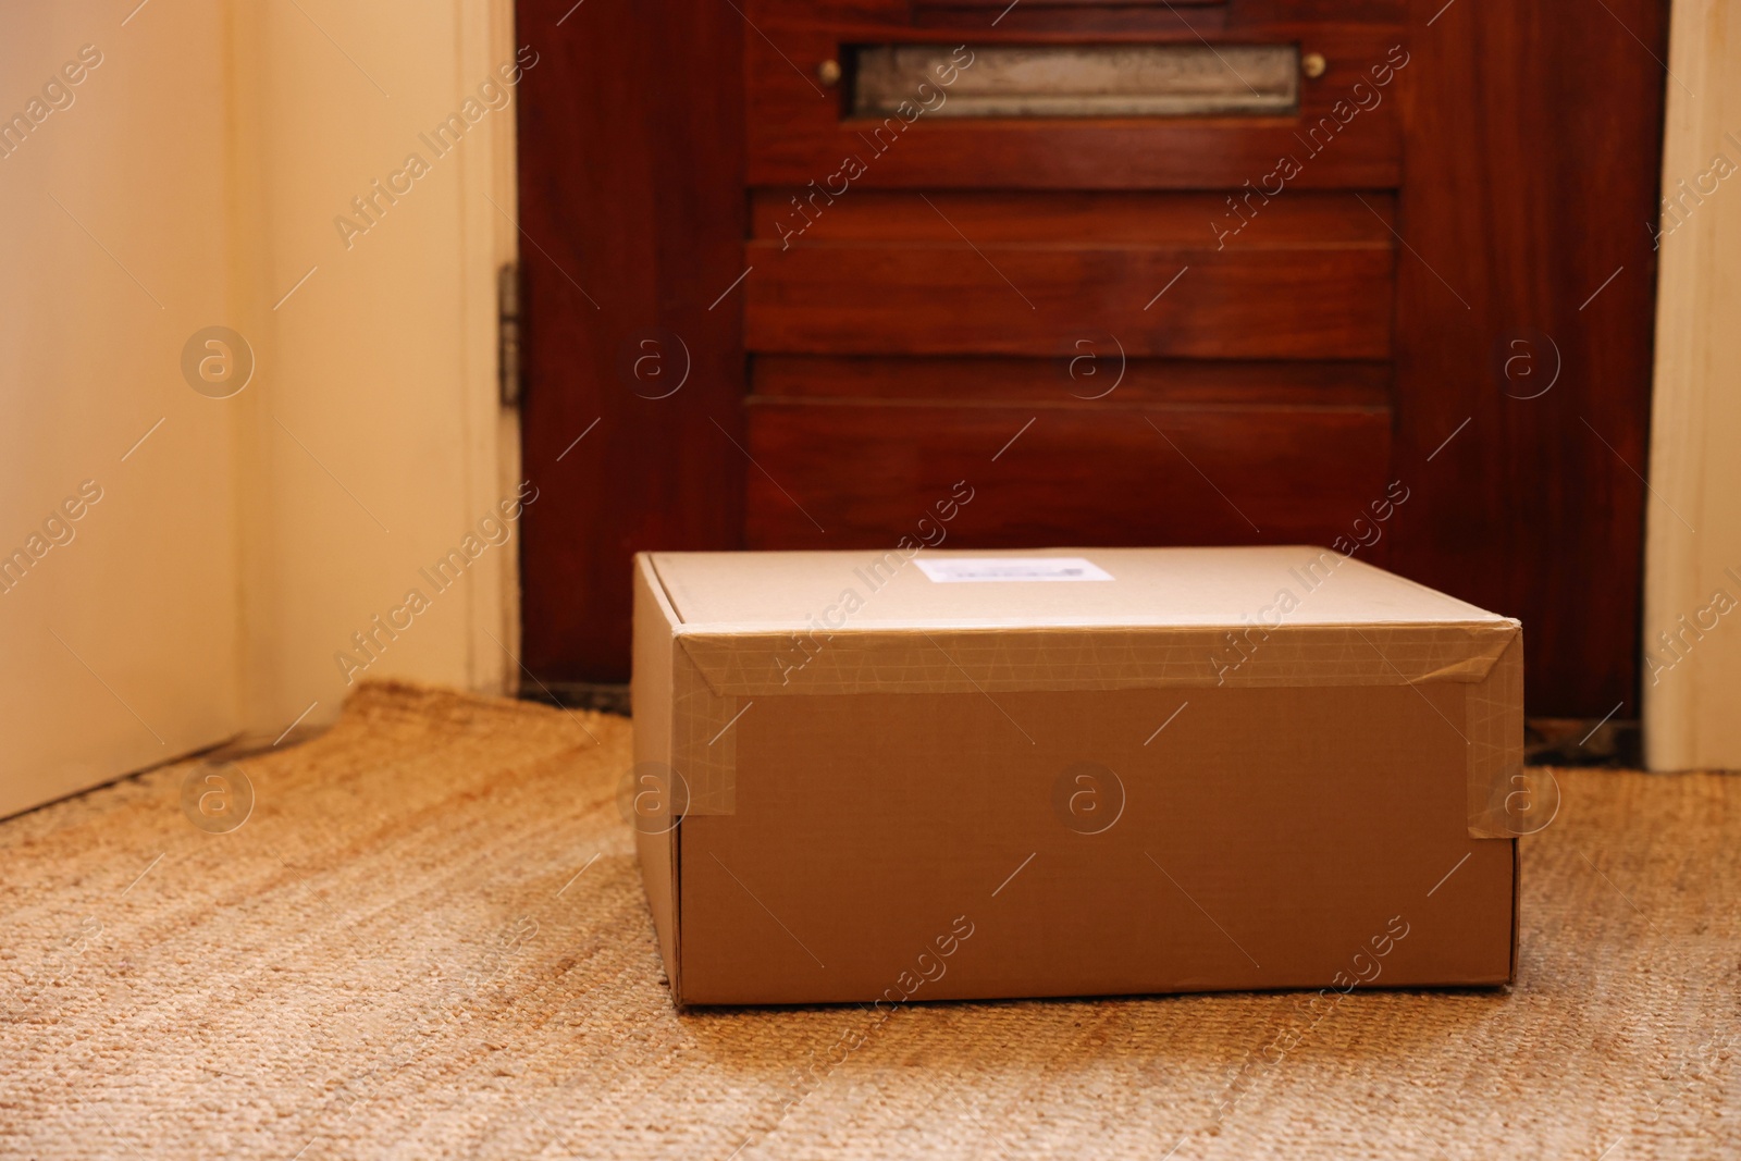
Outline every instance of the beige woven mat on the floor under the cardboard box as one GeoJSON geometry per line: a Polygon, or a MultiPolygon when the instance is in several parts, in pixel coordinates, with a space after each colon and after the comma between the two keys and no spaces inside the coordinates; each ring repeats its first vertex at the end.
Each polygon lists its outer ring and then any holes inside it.
{"type": "Polygon", "coordinates": [[[876,1025],[672,1011],[629,733],[366,686],[228,834],[190,764],[0,825],[0,1156],[1741,1156],[1741,778],[1562,771],[1511,992],[876,1025]]]}

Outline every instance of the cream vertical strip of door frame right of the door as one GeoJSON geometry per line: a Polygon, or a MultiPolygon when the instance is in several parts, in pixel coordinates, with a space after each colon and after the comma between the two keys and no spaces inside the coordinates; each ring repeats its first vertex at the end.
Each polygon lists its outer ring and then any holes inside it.
{"type": "Polygon", "coordinates": [[[1670,68],[1678,80],[1668,82],[1663,158],[1645,761],[1732,769],[1741,768],[1741,10],[1677,0],[1670,68]]]}

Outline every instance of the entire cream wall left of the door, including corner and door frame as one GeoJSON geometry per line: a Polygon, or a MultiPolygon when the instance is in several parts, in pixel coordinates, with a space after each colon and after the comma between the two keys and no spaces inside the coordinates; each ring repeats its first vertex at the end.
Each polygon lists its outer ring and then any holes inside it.
{"type": "Polygon", "coordinates": [[[477,689],[515,672],[517,527],[447,592],[420,576],[517,491],[494,381],[517,238],[489,200],[515,205],[514,104],[446,157],[420,141],[514,61],[508,0],[7,5],[0,117],[82,45],[101,63],[0,157],[0,555],[101,487],[0,590],[0,815],[331,721],[339,651],[477,689]],[[334,218],[364,221],[352,198],[413,151],[428,172],[346,249],[334,218]],[[181,371],[214,324],[256,357],[230,399],[181,371]],[[355,649],[411,588],[428,609],[355,649]]]}

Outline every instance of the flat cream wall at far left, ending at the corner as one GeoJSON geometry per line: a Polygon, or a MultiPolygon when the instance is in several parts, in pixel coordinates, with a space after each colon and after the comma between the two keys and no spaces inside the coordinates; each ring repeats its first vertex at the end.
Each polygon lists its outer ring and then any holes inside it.
{"type": "Polygon", "coordinates": [[[232,413],[179,371],[235,294],[223,7],[125,16],[0,14],[0,117],[40,117],[0,157],[0,554],[71,534],[0,590],[0,815],[242,715],[232,413]],[[84,480],[101,500],[45,531],[84,480]]]}

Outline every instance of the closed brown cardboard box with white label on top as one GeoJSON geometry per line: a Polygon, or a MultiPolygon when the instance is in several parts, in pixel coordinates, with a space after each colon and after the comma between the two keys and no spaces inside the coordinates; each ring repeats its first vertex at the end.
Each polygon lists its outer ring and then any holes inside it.
{"type": "Polygon", "coordinates": [[[1523,639],[1325,548],[642,554],[679,1004],[1511,980],[1523,639]]]}

